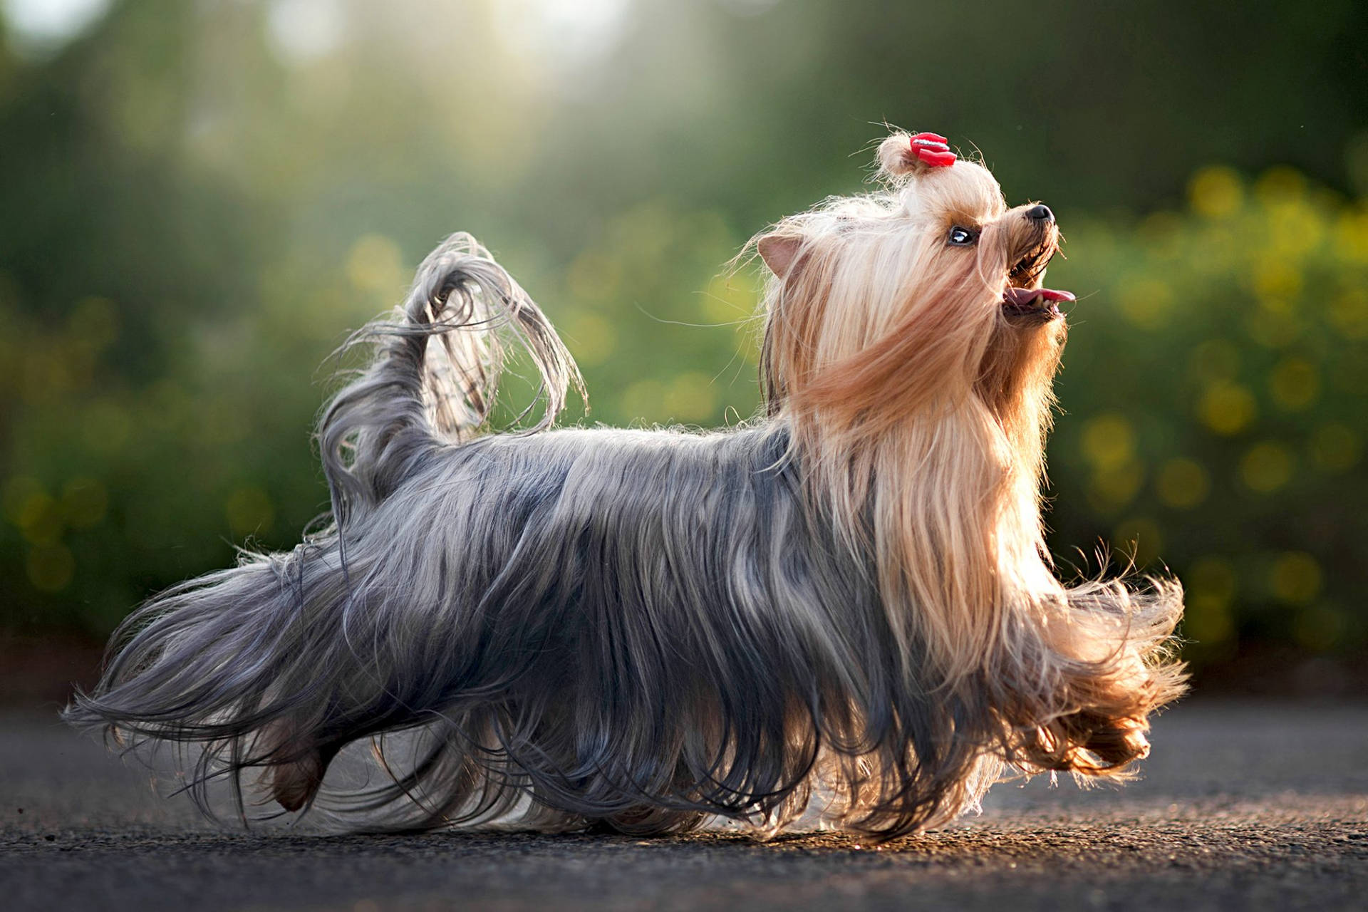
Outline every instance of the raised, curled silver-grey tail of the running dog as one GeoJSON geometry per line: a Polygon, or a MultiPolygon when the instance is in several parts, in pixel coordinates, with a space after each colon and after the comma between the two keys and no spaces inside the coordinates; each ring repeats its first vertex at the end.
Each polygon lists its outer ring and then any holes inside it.
{"type": "Polygon", "coordinates": [[[456,443],[486,425],[508,342],[525,350],[551,425],[570,387],[588,402],[569,350],[532,298],[469,234],[449,237],[419,267],[408,299],[343,346],[373,346],[373,360],[334,397],[319,420],[319,448],[338,526],[394,489],[410,461],[434,443],[456,443]]]}

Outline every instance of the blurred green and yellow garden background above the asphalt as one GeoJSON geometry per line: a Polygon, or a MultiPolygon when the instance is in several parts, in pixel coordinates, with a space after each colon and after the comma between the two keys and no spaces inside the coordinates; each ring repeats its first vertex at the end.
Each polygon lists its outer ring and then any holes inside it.
{"type": "Polygon", "coordinates": [[[1198,686],[1361,695],[1354,0],[0,0],[0,693],[297,540],[320,365],[449,231],[561,328],[587,420],[750,416],[725,263],[859,191],[884,122],[1059,215],[1066,573],[1176,573],[1198,686]]]}

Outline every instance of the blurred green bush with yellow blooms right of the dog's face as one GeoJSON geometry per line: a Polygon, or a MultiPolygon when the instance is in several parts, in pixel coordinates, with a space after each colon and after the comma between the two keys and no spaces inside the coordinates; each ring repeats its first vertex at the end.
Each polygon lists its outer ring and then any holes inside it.
{"type": "Polygon", "coordinates": [[[1055,540],[1172,567],[1197,659],[1360,647],[1368,209],[1287,168],[1248,187],[1212,167],[1186,212],[1067,232],[1055,540]]]}

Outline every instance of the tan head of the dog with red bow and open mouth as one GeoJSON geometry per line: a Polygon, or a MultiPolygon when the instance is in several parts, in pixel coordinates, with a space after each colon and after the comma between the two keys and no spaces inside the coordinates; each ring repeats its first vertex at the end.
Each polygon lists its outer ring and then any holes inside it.
{"type": "Polygon", "coordinates": [[[1073,301],[1044,287],[1053,213],[1008,208],[988,168],[934,134],[895,133],[878,157],[880,191],[828,200],[757,241],[773,272],[770,410],[880,431],[974,397],[1018,423],[1025,399],[1048,399],[1059,305],[1073,301]]]}

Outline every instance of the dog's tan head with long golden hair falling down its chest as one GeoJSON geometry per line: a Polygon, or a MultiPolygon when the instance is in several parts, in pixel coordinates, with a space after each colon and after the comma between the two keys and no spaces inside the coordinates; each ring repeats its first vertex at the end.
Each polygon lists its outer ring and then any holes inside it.
{"type": "MultiPolygon", "coordinates": [[[[1007,591],[1047,591],[1038,494],[1064,339],[1055,216],[1010,208],[934,134],[878,150],[881,187],[757,239],[762,381],[814,502],[876,543],[891,622],[971,674],[1007,591]]],[[[1018,599],[1019,600],[1019,599],[1018,599]]],[[[899,629],[899,628],[895,628],[899,629]]]]}

